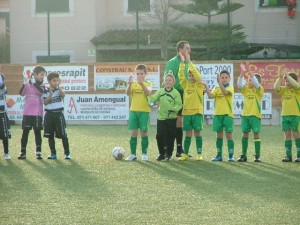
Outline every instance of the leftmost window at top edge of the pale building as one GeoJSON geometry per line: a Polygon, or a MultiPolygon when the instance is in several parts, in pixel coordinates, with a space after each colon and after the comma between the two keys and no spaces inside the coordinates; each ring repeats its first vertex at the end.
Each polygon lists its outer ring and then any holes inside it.
{"type": "Polygon", "coordinates": [[[70,12],[69,0],[35,0],[37,13],[70,12]]]}

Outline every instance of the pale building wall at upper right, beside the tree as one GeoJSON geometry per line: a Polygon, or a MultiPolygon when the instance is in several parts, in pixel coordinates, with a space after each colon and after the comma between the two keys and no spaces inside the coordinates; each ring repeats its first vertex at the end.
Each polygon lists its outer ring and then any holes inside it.
{"type": "Polygon", "coordinates": [[[247,42],[300,45],[299,13],[295,19],[290,19],[285,7],[259,8],[259,0],[231,1],[245,5],[232,13],[232,23],[245,26],[247,42]]]}

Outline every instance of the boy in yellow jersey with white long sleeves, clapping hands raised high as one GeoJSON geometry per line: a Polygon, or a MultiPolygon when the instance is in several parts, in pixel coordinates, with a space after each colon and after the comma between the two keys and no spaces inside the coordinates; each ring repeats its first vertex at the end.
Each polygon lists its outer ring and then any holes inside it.
{"type": "Polygon", "coordinates": [[[240,64],[241,73],[237,80],[237,87],[244,96],[244,108],[242,113],[242,155],[238,162],[247,162],[247,149],[249,132],[253,132],[255,156],[254,162],[260,162],[260,146],[261,140],[259,133],[261,131],[261,99],[264,94],[264,88],[260,85],[260,74],[253,74],[249,69],[249,63],[240,64]],[[248,71],[248,83],[244,79],[245,73],[248,71]]]}

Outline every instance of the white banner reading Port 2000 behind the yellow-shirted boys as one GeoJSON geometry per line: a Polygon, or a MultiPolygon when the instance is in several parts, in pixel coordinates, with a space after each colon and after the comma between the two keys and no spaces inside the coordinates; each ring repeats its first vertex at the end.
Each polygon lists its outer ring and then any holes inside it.
{"type": "Polygon", "coordinates": [[[218,63],[218,64],[195,64],[199,70],[202,79],[207,83],[209,89],[218,87],[217,74],[222,70],[227,70],[231,76],[230,84],[233,86],[233,64],[232,63],[218,63]]]}

